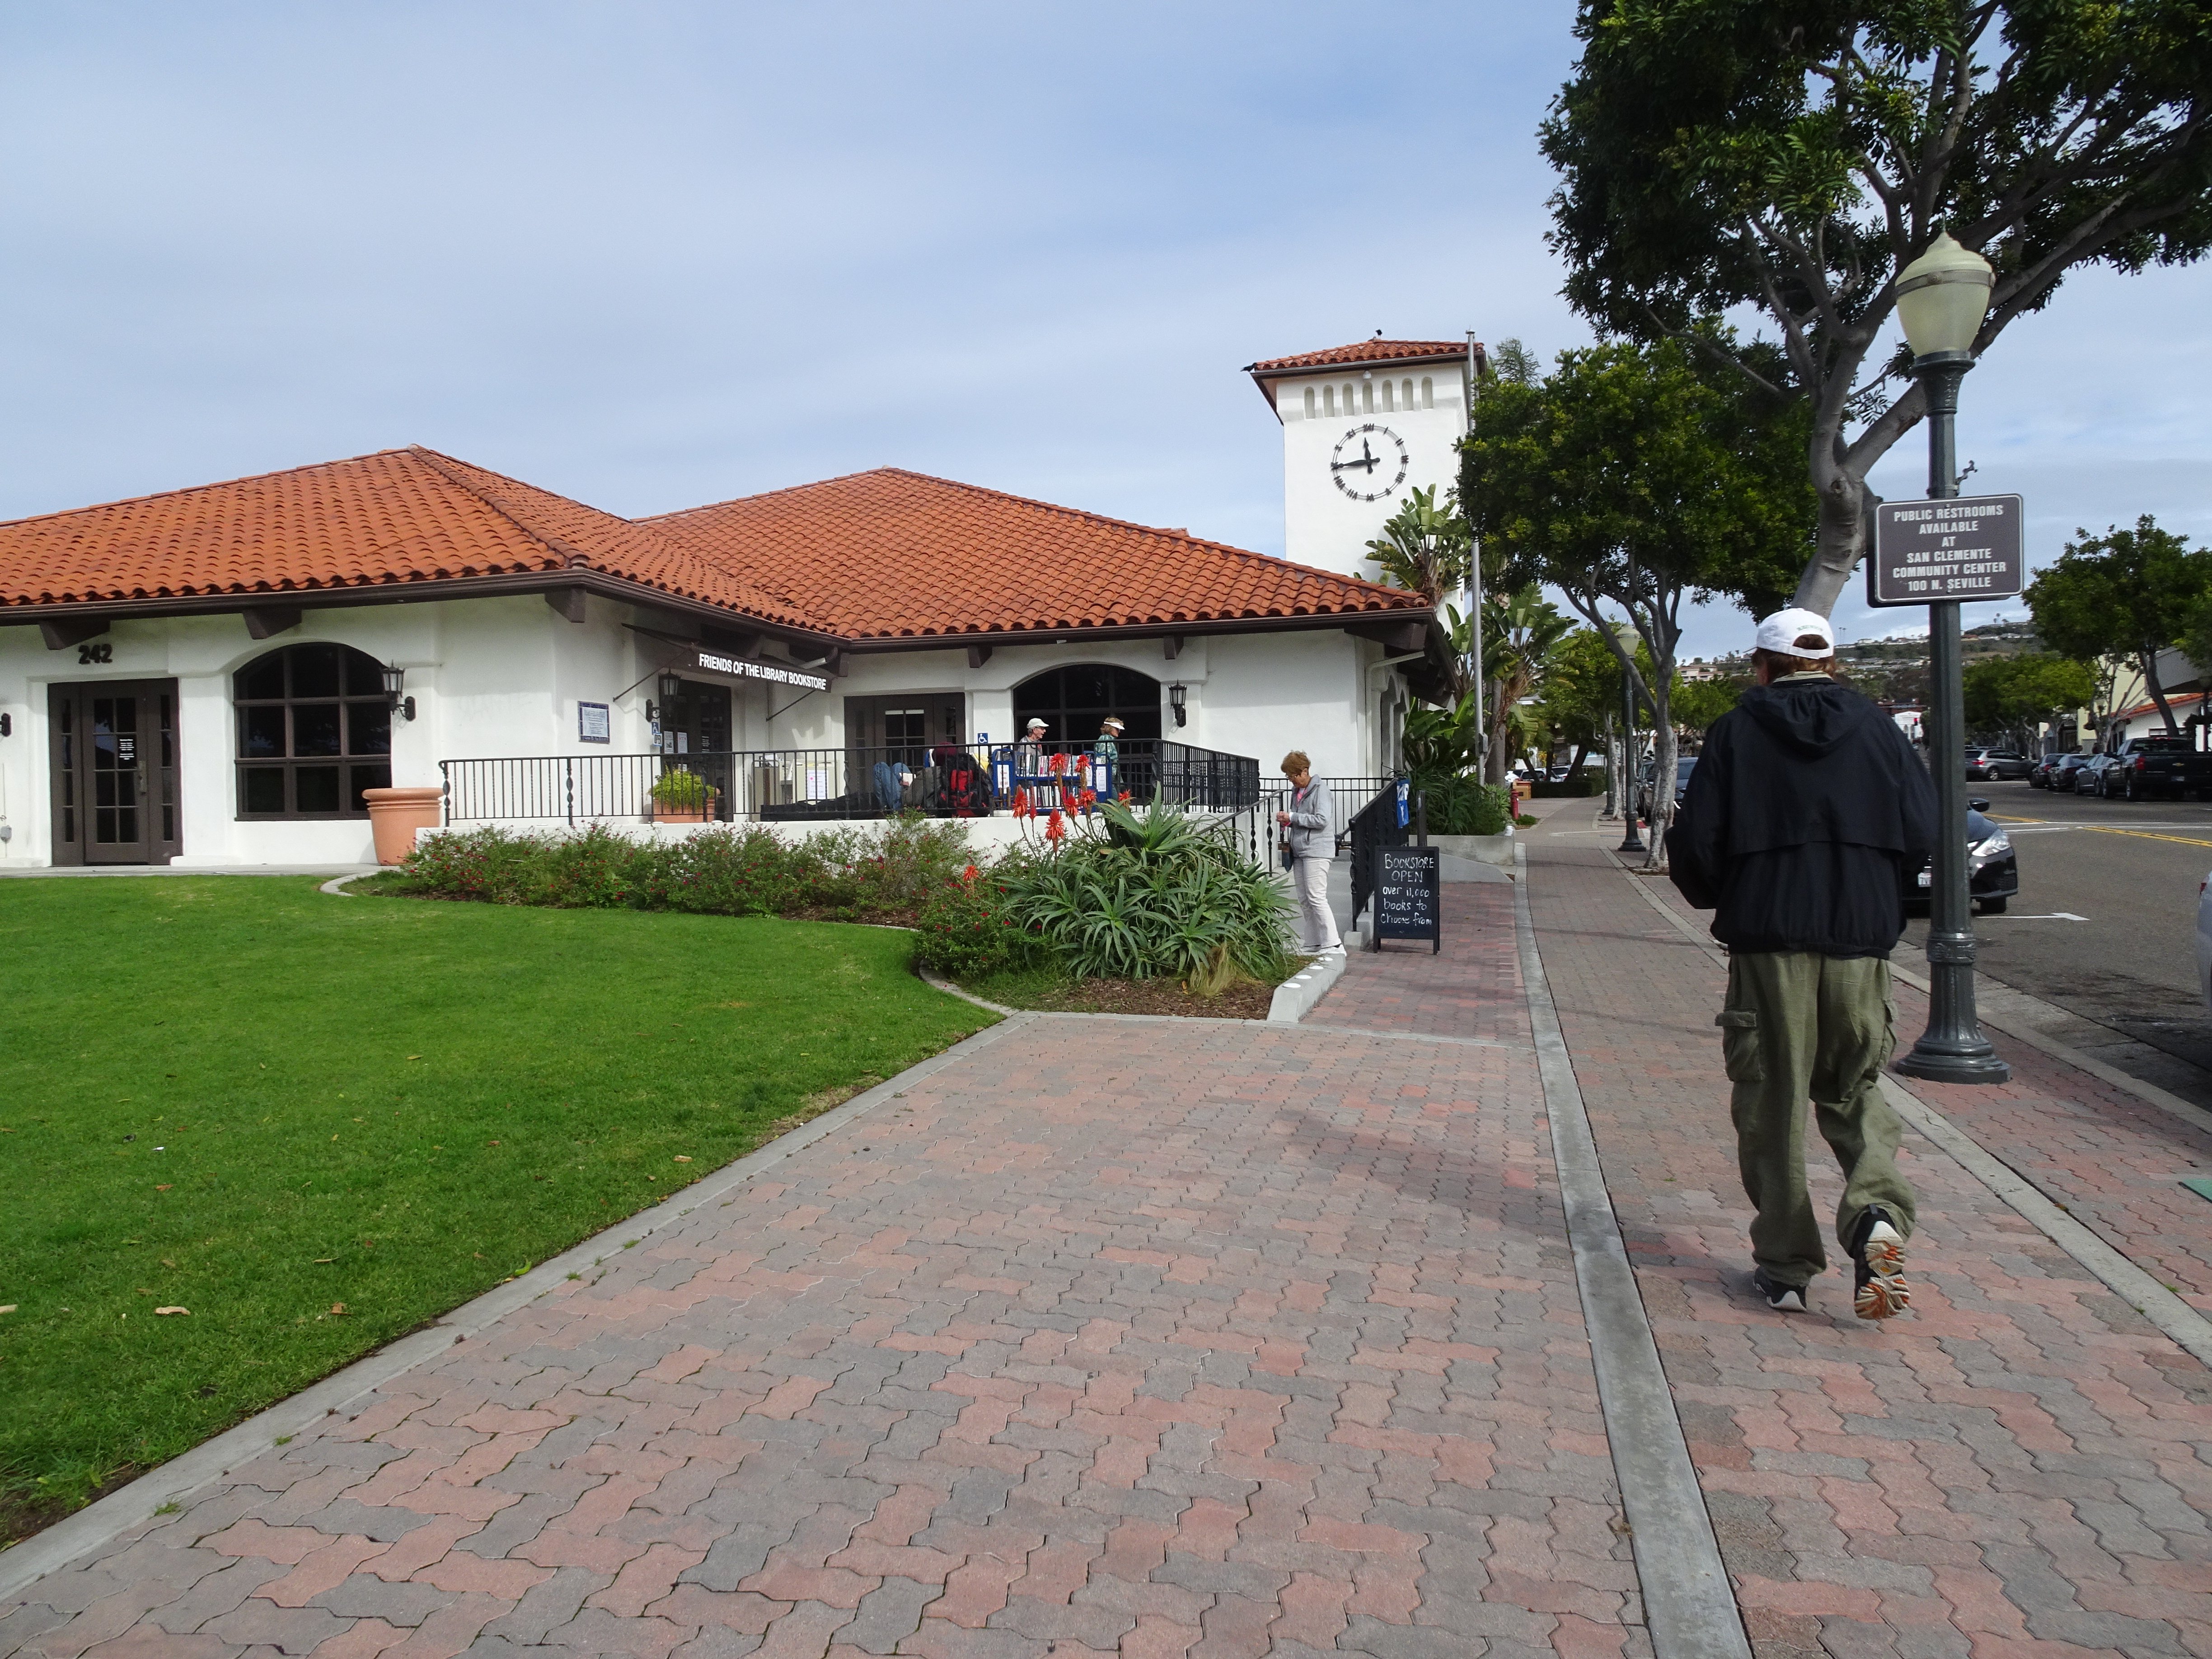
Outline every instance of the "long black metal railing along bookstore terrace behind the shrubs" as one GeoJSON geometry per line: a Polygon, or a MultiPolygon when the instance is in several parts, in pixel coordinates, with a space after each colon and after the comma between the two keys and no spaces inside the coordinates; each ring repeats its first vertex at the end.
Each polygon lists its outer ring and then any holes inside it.
{"type": "Polygon", "coordinates": [[[734,823],[980,818],[1128,799],[1192,812],[1248,812],[1259,761],[1190,743],[902,743],[891,748],[695,754],[511,754],[440,761],[445,821],[734,823]]]}

